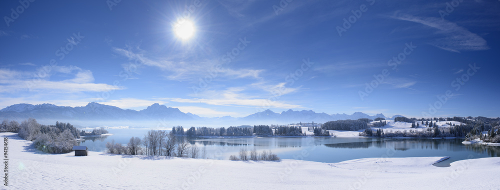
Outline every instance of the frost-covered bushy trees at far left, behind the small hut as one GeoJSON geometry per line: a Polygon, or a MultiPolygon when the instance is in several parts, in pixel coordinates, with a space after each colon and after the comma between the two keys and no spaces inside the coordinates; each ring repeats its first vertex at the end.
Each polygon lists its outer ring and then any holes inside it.
{"type": "Polygon", "coordinates": [[[20,124],[17,121],[3,120],[2,132],[17,132],[19,137],[33,141],[35,148],[48,153],[71,152],[79,138],[80,131],[69,123],[56,122],[55,125],[39,124],[36,119],[28,118],[20,124]]]}

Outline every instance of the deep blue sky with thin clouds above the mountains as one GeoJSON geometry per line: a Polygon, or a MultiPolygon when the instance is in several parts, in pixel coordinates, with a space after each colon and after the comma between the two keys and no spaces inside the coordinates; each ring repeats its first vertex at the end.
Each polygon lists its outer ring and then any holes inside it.
{"type": "Polygon", "coordinates": [[[22,2],[0,6],[1,108],[500,116],[500,1],[22,2]]]}

